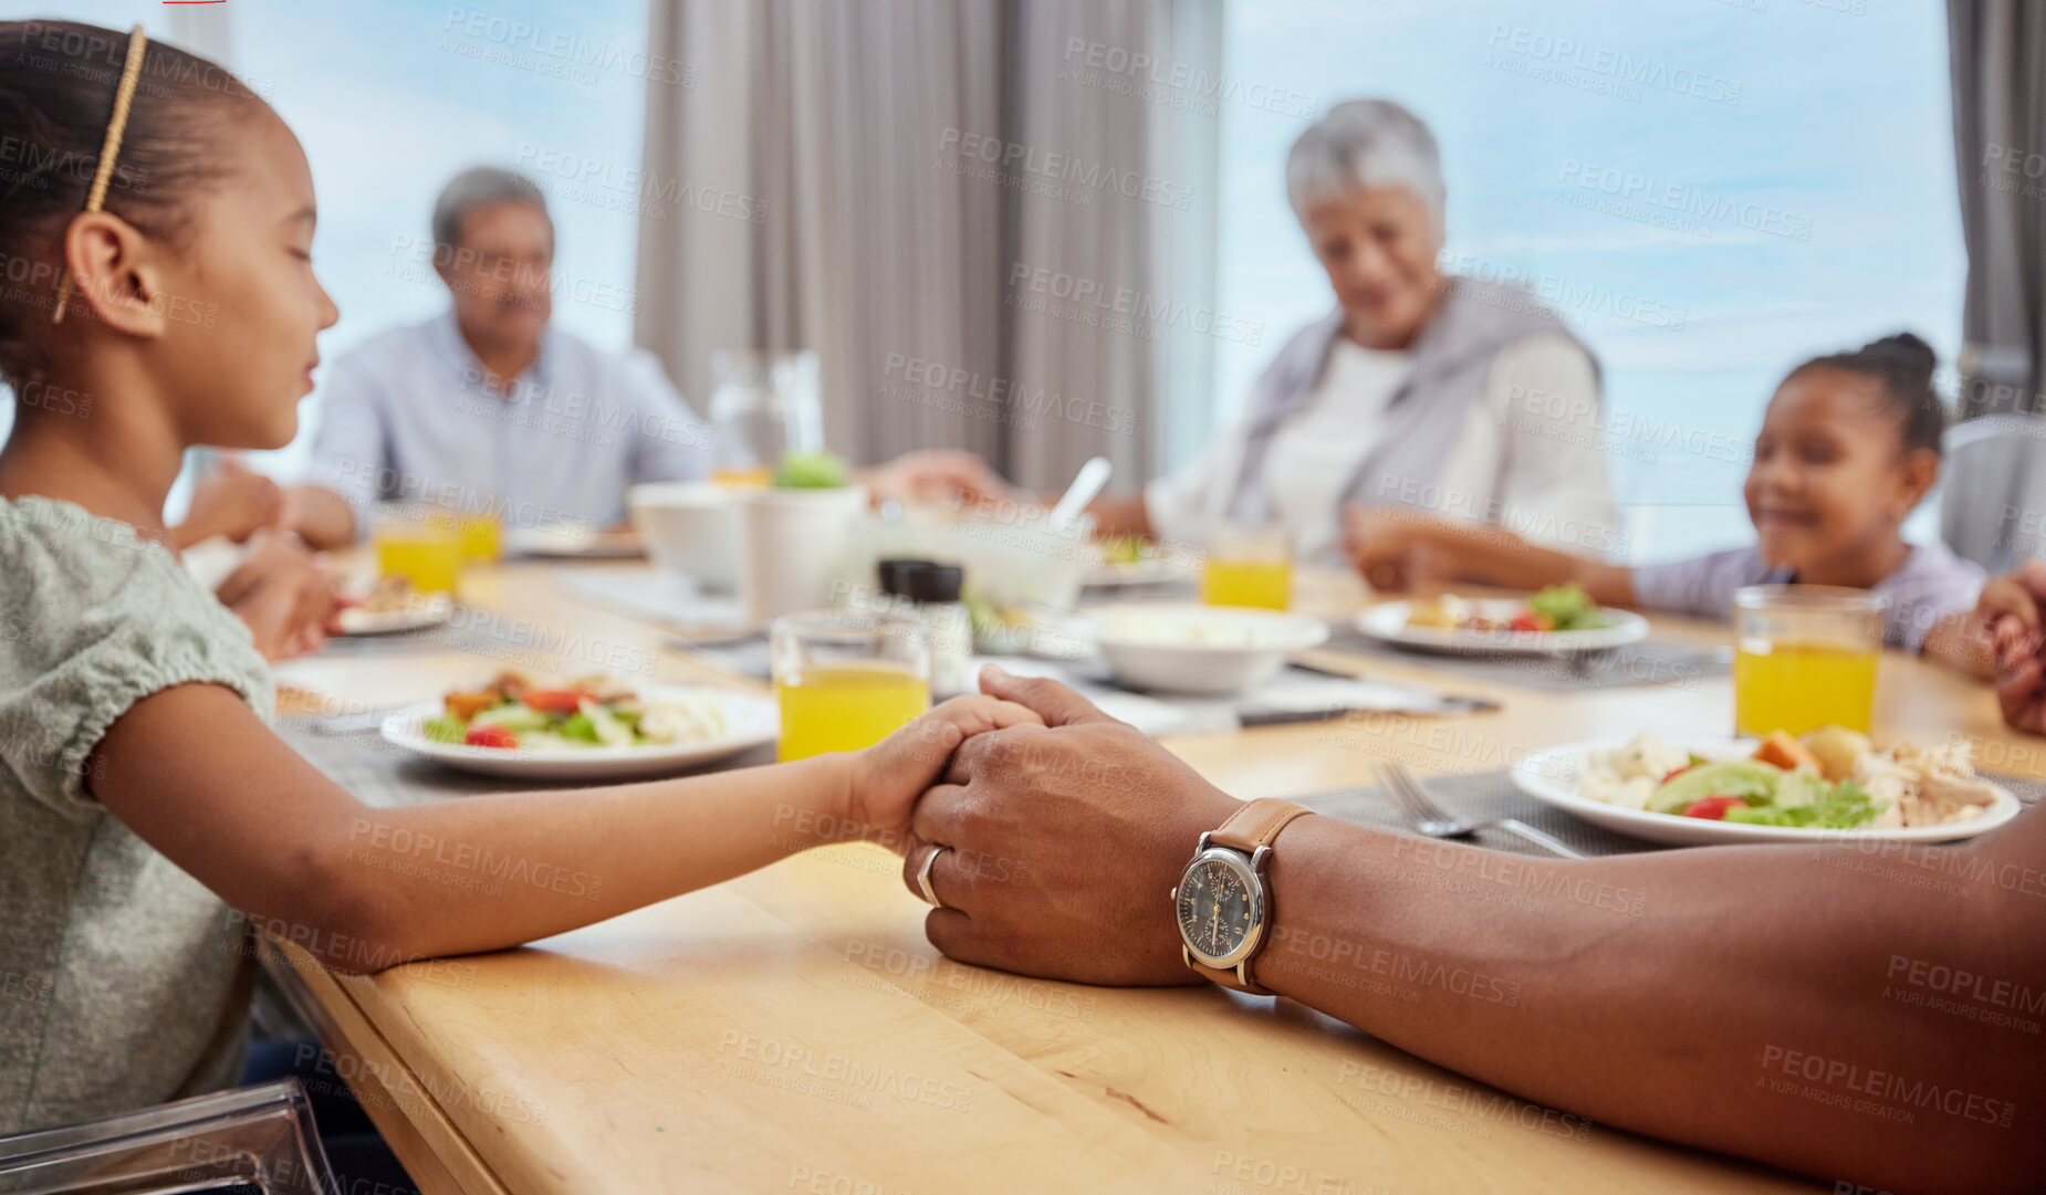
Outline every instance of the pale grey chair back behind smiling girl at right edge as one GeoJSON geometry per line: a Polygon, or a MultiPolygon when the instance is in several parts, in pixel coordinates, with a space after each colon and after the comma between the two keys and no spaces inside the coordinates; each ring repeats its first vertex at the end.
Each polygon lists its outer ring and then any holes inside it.
{"type": "Polygon", "coordinates": [[[1991,573],[2046,557],[2046,415],[1978,415],[1948,428],[1940,538],[1991,573]]]}

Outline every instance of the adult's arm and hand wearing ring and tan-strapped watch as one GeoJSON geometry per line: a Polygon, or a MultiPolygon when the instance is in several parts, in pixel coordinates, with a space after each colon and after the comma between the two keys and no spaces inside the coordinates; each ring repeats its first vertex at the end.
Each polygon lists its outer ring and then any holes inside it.
{"type": "Polygon", "coordinates": [[[1289,997],[1835,1191],[2038,1191],[2046,1046],[1987,1013],[2046,994],[2046,810],[1903,861],[1845,843],[1504,859],[1238,802],[1056,681],[988,669],[982,690],[1046,726],[966,741],[915,810],[904,880],[960,962],[1289,997]],[[1011,861],[1000,882],[984,859],[1011,861]],[[1485,882],[1567,898],[1473,898],[1485,882]],[[1927,970],[1968,976],[1968,1017],[1915,999],[1942,990],[1927,970]]]}

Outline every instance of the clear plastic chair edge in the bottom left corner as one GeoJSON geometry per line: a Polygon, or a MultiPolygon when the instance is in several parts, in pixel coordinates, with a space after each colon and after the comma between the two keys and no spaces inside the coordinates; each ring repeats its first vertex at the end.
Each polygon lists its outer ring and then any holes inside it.
{"type": "Polygon", "coordinates": [[[331,1195],[297,1078],[0,1138],[0,1195],[331,1195]]]}

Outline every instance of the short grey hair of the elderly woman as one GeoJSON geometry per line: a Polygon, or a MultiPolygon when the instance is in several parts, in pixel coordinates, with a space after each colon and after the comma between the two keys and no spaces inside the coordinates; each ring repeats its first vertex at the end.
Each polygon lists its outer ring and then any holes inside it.
{"type": "Polygon", "coordinates": [[[1285,196],[1303,221],[1309,207],[1365,186],[1412,190],[1442,229],[1442,153],[1428,125],[1391,100],[1342,100],[1285,158],[1285,196]]]}

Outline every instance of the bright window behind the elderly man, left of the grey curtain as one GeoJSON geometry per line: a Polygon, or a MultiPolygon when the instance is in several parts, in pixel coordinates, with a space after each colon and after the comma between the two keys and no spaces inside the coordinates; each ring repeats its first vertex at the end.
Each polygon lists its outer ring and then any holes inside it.
{"type": "MultiPolygon", "coordinates": [[[[0,16],[47,8],[8,2],[0,16]]],[[[172,39],[155,0],[65,8],[74,20],[141,20],[151,37],[172,39]]],[[[227,65],[276,106],[313,166],[313,262],[342,309],[319,338],[323,360],[446,309],[428,221],[442,184],[477,164],[522,170],[548,192],[554,325],[606,348],[630,344],[647,72],[667,68],[644,55],[647,0],[229,0],[215,12],[227,18],[227,65]]],[[[317,419],[313,391],[299,438],[256,454],[258,467],[295,477],[317,419]]]]}

